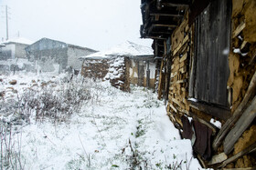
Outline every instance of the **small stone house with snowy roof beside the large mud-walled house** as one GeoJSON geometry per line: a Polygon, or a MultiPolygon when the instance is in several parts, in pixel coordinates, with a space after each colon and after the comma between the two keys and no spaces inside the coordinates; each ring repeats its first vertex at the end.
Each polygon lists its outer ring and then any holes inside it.
{"type": "Polygon", "coordinates": [[[130,84],[155,87],[155,59],[149,47],[127,41],[83,58],[81,74],[86,77],[110,80],[123,91],[129,91],[130,84]]]}

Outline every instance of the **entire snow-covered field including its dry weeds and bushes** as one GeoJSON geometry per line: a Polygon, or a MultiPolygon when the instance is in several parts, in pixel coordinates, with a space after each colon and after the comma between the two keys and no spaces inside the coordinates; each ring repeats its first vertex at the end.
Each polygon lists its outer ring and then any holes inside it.
{"type": "Polygon", "coordinates": [[[0,75],[0,93],[3,169],[202,169],[143,87],[124,93],[80,76],[17,74],[0,75]]]}

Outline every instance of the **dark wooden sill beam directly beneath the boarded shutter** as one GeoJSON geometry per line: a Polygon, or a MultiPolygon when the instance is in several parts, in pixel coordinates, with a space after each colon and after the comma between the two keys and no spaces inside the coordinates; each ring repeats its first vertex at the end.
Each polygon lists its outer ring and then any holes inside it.
{"type": "Polygon", "coordinates": [[[202,111],[208,115],[213,115],[215,117],[220,118],[221,120],[227,120],[230,116],[230,111],[217,107],[217,106],[212,106],[212,105],[206,105],[206,104],[202,104],[202,103],[197,103],[197,102],[193,102],[193,101],[189,101],[191,107],[202,111]]]}

